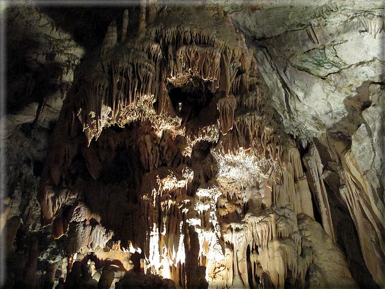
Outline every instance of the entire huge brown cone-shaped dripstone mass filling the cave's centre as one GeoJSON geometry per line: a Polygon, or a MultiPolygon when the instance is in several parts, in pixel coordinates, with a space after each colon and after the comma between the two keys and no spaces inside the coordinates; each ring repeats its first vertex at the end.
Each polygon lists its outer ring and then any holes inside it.
{"type": "MultiPolygon", "coordinates": [[[[263,273],[276,288],[284,288],[288,278],[302,286],[314,256],[303,251],[297,221],[300,213],[313,217],[300,154],[290,138],[277,131],[268,89],[242,35],[219,8],[201,8],[200,16],[183,8],[145,27],[140,22],[138,38],[125,40],[123,28],[120,43],[113,22],[100,57],[80,65],[43,172],[39,194],[43,219],[53,222],[56,238],[67,235],[67,254],[105,247],[112,235],[99,222],[106,214],[113,218],[119,214],[108,204],[107,211],[92,218],[96,207],[88,201],[91,211],[78,206],[70,210],[72,218],[64,216],[64,207],[81,198],[80,187],[89,181],[64,189],[63,180],[79,153],[90,175],[100,178],[120,142],[139,148],[144,171],[149,171],[140,191],[134,192],[137,202],[130,202],[141,213],[129,214],[136,225],[127,232],[128,240],[121,240],[144,253],[144,272],[171,278],[186,288],[254,288],[263,273]],[[167,17],[176,23],[183,17],[183,26],[166,22],[167,17]],[[170,87],[180,89],[175,107],[170,87]],[[183,94],[188,93],[195,93],[195,99],[185,99],[183,94]],[[209,99],[199,99],[199,94],[209,99]],[[210,125],[204,111],[210,103],[219,112],[212,125],[219,127],[205,137],[200,131],[210,125]],[[203,127],[196,129],[194,120],[203,127]],[[133,122],[136,139],[125,139],[128,132],[102,137],[109,126],[127,130],[133,122]],[[197,149],[200,145],[205,153],[197,149]],[[58,190],[52,192],[55,187],[58,190]]],[[[312,191],[321,202],[325,189],[320,187],[319,163],[318,157],[306,166],[316,186],[312,191]]],[[[323,215],[324,204],[327,199],[320,203],[322,218],[330,218],[330,211],[323,215]]],[[[322,221],[334,240],[332,224],[322,221]]],[[[113,229],[127,230],[119,225],[113,229]]],[[[346,275],[335,274],[336,280],[346,275]]]]}

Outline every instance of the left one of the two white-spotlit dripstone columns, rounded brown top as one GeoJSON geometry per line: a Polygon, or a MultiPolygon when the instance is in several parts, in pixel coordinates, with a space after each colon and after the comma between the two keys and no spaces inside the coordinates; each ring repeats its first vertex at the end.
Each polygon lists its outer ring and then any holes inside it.
{"type": "Polygon", "coordinates": [[[141,222],[145,227],[152,228],[151,232],[144,232],[146,236],[143,236],[146,257],[155,265],[160,265],[163,259],[166,263],[183,262],[182,225],[186,208],[191,203],[187,189],[193,180],[193,171],[186,165],[176,170],[160,167],[148,173],[146,179],[148,182],[143,184],[140,198],[144,212],[141,222]],[[161,256],[159,248],[163,246],[167,252],[161,256]]]}

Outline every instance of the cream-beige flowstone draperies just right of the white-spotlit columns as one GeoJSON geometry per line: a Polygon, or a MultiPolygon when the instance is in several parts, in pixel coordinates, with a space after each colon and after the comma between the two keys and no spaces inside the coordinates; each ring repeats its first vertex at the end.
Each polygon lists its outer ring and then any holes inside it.
{"type": "MultiPolygon", "coordinates": [[[[243,102],[242,109],[247,110],[249,115],[253,112],[259,116],[257,111],[251,109],[261,109],[258,104],[260,100],[243,99],[247,101],[243,102]]],[[[250,126],[258,127],[255,123],[250,126]]],[[[235,129],[236,124],[230,133],[235,129]]],[[[251,147],[249,151],[253,149],[251,147]]],[[[284,288],[287,278],[290,284],[304,284],[312,262],[313,255],[303,244],[297,224],[297,214],[305,213],[313,217],[311,193],[301,155],[290,139],[281,141],[281,149],[282,166],[274,177],[269,177],[269,173],[259,174],[259,179],[253,181],[253,185],[238,177],[241,173],[231,175],[225,170],[223,175],[217,177],[222,191],[217,202],[217,214],[224,241],[234,246],[234,272],[238,272],[237,268],[239,272],[247,272],[249,266],[253,272],[257,272],[252,280],[247,274],[240,273],[238,276],[234,273],[232,285],[235,287],[246,287],[253,282],[253,287],[257,288],[260,282],[258,278],[262,278],[264,272],[269,272],[276,288],[284,288]],[[248,256],[246,251],[249,252],[248,256]],[[246,263],[246,259],[250,260],[249,263],[246,263]]],[[[242,157],[238,155],[238,158],[242,157]]],[[[231,165],[237,160],[240,159],[232,159],[231,165]]],[[[270,164],[268,171],[272,168],[270,164]]]]}

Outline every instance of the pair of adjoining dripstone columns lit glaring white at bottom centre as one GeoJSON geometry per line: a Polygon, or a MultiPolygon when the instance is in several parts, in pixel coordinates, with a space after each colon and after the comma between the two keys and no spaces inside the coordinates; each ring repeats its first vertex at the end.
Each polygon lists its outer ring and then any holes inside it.
{"type": "Polygon", "coordinates": [[[160,167],[144,178],[148,181],[142,185],[139,205],[144,212],[141,224],[150,228],[142,234],[149,269],[186,286],[188,280],[196,281],[199,266],[211,270],[224,258],[215,215],[221,192],[213,182],[191,196],[193,171],[186,165],[160,167]],[[196,255],[189,254],[191,250],[196,250],[196,255]]]}

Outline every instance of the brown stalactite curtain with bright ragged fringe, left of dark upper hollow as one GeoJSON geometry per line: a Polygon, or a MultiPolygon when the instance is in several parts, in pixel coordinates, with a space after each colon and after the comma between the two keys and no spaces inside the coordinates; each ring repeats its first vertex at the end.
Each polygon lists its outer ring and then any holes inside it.
{"type": "MultiPolygon", "coordinates": [[[[161,111],[168,109],[165,65],[160,44],[149,38],[127,42],[128,15],[125,12],[121,42],[113,21],[91,68],[80,66],[82,81],[75,82],[77,114],[88,143],[98,138],[103,127],[123,127],[135,120],[150,119],[160,126],[161,111]],[[157,112],[153,104],[157,102],[157,112]]],[[[164,117],[163,117],[164,118],[164,117]]],[[[164,120],[163,120],[164,121],[164,120]]]]}

